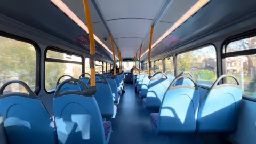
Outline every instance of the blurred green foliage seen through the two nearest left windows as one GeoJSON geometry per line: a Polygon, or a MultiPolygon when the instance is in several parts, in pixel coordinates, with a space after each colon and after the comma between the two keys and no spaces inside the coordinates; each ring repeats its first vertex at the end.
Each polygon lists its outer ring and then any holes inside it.
{"type": "MultiPolygon", "coordinates": [[[[3,79],[20,79],[35,90],[36,82],[36,50],[31,44],[0,37],[0,81],[3,79]]],[[[63,59],[63,54],[47,53],[47,57],[63,59]]],[[[46,90],[55,87],[57,79],[65,73],[65,63],[45,63],[46,90]]],[[[81,71],[80,71],[81,73],[81,71]]]]}

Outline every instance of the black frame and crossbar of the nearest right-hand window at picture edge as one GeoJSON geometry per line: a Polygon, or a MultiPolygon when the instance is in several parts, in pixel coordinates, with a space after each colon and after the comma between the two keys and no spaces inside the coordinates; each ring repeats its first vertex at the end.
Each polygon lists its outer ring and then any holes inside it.
{"type": "MultiPolygon", "coordinates": [[[[226,52],[227,46],[232,43],[236,42],[245,38],[255,37],[256,36],[256,29],[246,31],[245,33],[241,33],[238,35],[234,35],[231,37],[228,37],[223,41],[221,47],[221,61],[223,61],[226,58],[229,57],[237,57],[237,56],[244,56],[244,55],[252,55],[256,54],[256,49],[249,49],[249,50],[242,50],[242,51],[234,51],[234,52],[226,52]]],[[[241,64],[242,65],[242,64],[241,64]]],[[[223,62],[221,62],[221,74],[226,74],[226,67],[223,66],[223,62]]],[[[222,79],[223,82],[227,82],[226,79],[222,79]]],[[[256,102],[256,98],[251,97],[250,95],[243,94],[243,99],[256,102]]]]}

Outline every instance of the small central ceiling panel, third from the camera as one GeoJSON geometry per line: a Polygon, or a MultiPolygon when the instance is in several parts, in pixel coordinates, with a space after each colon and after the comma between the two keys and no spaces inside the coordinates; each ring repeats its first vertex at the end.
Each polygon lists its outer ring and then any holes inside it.
{"type": "Polygon", "coordinates": [[[122,47],[140,47],[143,38],[118,38],[115,42],[118,46],[122,47]]]}

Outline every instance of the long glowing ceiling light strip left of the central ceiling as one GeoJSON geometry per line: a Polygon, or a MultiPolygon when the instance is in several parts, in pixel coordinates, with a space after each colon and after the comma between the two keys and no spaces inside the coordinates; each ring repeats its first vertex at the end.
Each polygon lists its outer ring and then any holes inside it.
{"type": "MultiPolygon", "coordinates": [[[[83,23],[83,21],[81,21],[75,13],[73,13],[73,11],[71,11],[68,6],[63,3],[61,0],[51,0],[52,3],[54,3],[56,6],[59,7],[60,10],[62,10],[64,13],[66,13],[68,15],[69,18],[71,18],[72,20],[74,20],[78,26],[80,26],[83,30],[86,31],[86,33],[89,33],[87,26],[83,23]]],[[[113,52],[111,52],[108,47],[103,44],[103,42],[100,41],[100,39],[93,34],[95,41],[97,41],[102,47],[104,47],[104,49],[106,49],[110,54],[113,55],[113,52]]],[[[116,57],[116,55],[115,55],[116,57]]],[[[117,57],[116,57],[117,58],[117,57]]]]}

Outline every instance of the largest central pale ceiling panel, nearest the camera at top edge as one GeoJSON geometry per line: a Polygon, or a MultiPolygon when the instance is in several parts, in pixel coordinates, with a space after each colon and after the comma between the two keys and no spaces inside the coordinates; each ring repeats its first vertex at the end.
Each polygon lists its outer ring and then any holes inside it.
{"type": "Polygon", "coordinates": [[[153,20],[165,0],[97,0],[106,20],[143,18],[153,20]]]}

